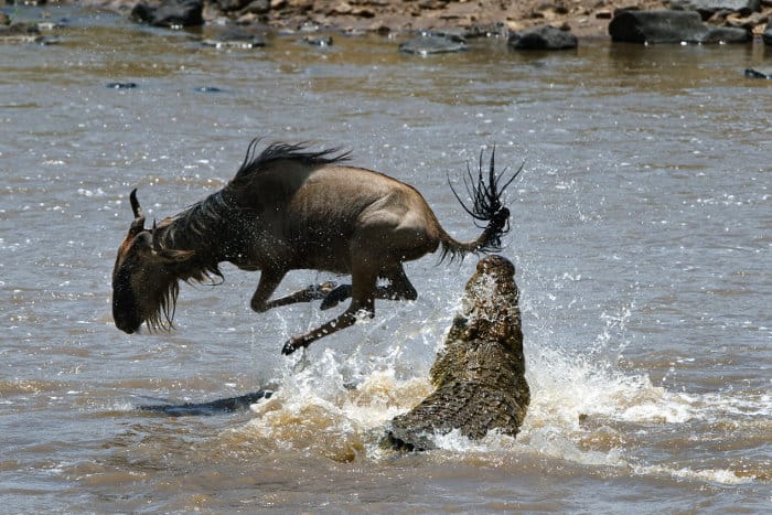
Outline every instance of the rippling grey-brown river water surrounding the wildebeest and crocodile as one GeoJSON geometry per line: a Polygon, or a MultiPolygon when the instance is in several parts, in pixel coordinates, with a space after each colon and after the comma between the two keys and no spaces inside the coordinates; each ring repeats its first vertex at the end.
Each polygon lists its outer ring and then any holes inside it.
{"type": "MultiPolygon", "coordinates": [[[[11,8],[6,8],[7,10],[11,8]]],[[[201,32],[51,8],[51,45],[0,46],[0,500],[13,513],[772,509],[772,64],[760,43],[400,55],[400,37],[201,32]],[[130,89],[109,83],[135,83],[130,89]],[[216,90],[214,89],[216,88],[216,90]],[[305,353],[319,303],[254,313],[258,272],[183,285],[172,333],[112,324],[110,273],[148,219],[217,191],[248,142],[310,140],[452,196],[496,146],[532,404],[516,439],[395,457],[379,428],[428,391],[476,259],[408,264],[415,302],[305,353]],[[256,391],[249,410],[143,405],[256,391]]],[[[40,11],[22,8],[19,17],[40,11]]],[[[286,293],[341,280],[298,271],[286,293]]],[[[335,311],[335,310],[333,310],[335,311]]],[[[335,311],[340,312],[339,311],[335,311]]]]}

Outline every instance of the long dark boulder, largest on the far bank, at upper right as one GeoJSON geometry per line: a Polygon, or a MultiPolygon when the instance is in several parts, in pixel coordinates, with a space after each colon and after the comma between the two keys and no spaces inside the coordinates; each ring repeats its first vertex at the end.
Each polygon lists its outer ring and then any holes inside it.
{"type": "Polygon", "coordinates": [[[612,41],[629,43],[744,43],[749,31],[711,26],[696,11],[618,11],[609,23],[612,41]]]}

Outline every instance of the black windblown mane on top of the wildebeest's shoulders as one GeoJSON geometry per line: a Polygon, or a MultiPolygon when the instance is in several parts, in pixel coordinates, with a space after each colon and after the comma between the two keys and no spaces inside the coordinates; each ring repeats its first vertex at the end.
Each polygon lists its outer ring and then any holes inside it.
{"type": "Polygon", "coordinates": [[[270,143],[258,154],[257,148],[260,141],[260,138],[255,138],[249,142],[244,162],[238,169],[238,172],[236,172],[236,176],[230,181],[230,184],[228,184],[229,187],[239,187],[247,184],[255,174],[266,170],[269,164],[276,161],[290,160],[308,167],[315,167],[351,159],[351,152],[343,152],[336,147],[322,150],[309,150],[309,142],[294,144],[270,143]]]}

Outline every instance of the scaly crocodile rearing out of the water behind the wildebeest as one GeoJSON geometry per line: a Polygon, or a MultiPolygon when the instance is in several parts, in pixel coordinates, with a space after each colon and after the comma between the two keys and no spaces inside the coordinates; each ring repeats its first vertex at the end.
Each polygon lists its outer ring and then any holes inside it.
{"type": "Polygon", "coordinates": [[[384,444],[428,450],[436,447],[436,436],[453,430],[473,440],[491,430],[517,434],[530,390],[514,278],[514,265],[501,256],[478,262],[446,346],[431,367],[436,390],[387,425],[384,444]]]}

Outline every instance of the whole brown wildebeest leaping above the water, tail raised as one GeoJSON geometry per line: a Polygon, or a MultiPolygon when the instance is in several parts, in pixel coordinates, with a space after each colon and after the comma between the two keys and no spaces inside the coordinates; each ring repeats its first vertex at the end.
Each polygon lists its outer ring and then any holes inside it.
{"type": "MultiPolygon", "coordinates": [[[[372,170],[345,165],[349,152],[313,151],[307,143],[268,144],[257,153],[249,143],[238,172],[221,191],[185,211],[144,228],[137,190],[129,195],[135,219],[118,248],[112,270],[112,318],[121,331],[170,330],[179,282],[223,278],[219,264],[260,270],[251,309],[324,299],[322,309],[351,297],[335,319],[289,340],[290,354],[352,325],[357,313],[375,314],[375,299],[416,299],[404,261],[442,247],[442,257],[501,248],[508,230],[510,210],[501,194],[517,176],[503,183],[491,153],[487,179],[480,153],[479,173],[467,167],[464,184],[471,196],[464,210],[485,224],[480,237],[462,243],[440,225],[423,196],[403,182],[372,170]],[[350,273],[351,285],[324,283],[269,300],[290,270],[313,269],[350,273]],[[384,286],[378,280],[385,281],[384,286]]],[[[522,167],[521,167],[522,169],[522,167]]],[[[449,181],[450,183],[450,181],[449,181]]]]}

